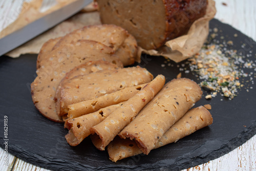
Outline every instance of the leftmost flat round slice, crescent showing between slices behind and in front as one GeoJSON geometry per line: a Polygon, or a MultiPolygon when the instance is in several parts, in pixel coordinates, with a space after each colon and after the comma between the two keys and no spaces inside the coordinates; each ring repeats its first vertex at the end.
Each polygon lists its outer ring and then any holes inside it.
{"type": "Polygon", "coordinates": [[[31,83],[33,102],[39,112],[50,120],[62,122],[57,115],[54,96],[56,89],[66,73],[73,68],[94,60],[104,60],[119,63],[112,55],[113,50],[92,40],[79,40],[74,44],[55,49],[47,58],[41,60],[37,77],[31,83]]]}

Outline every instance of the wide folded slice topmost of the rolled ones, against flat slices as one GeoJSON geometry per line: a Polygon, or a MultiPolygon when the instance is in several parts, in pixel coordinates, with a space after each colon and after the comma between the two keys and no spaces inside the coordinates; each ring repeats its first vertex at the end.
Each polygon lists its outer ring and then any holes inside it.
{"type": "Polygon", "coordinates": [[[127,87],[150,82],[153,75],[141,67],[102,70],[79,75],[62,84],[57,98],[60,116],[68,113],[68,105],[113,93],[127,87]]]}

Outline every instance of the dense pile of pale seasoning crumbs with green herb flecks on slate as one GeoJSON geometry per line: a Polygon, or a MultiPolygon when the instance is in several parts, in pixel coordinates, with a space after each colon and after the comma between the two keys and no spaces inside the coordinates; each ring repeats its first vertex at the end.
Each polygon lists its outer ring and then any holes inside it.
{"type": "Polygon", "coordinates": [[[233,99],[238,95],[238,89],[245,86],[241,79],[243,77],[249,76],[251,84],[254,83],[253,72],[245,73],[243,68],[255,69],[255,63],[238,55],[236,50],[227,50],[226,45],[231,45],[231,41],[221,45],[205,45],[198,54],[189,59],[190,70],[196,71],[203,80],[200,86],[210,91],[206,99],[216,97],[217,92],[221,92],[229,100],[233,99]]]}

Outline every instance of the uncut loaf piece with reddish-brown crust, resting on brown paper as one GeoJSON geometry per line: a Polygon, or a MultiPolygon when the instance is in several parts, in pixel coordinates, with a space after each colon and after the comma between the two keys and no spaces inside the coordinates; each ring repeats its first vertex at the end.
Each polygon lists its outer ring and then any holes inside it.
{"type": "Polygon", "coordinates": [[[165,41],[186,34],[193,22],[205,15],[207,7],[207,0],[96,2],[103,24],[124,28],[146,50],[159,48],[165,41]]]}

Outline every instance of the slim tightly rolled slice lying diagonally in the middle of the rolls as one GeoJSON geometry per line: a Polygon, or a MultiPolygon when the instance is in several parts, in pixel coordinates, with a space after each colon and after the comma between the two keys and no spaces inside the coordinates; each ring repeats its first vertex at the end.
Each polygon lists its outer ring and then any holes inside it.
{"type": "Polygon", "coordinates": [[[91,128],[91,139],[96,148],[103,151],[115,136],[129,124],[140,110],[150,102],[162,89],[165,77],[158,75],[146,84],[135,96],[124,102],[121,108],[115,110],[109,117],[91,128]]]}

